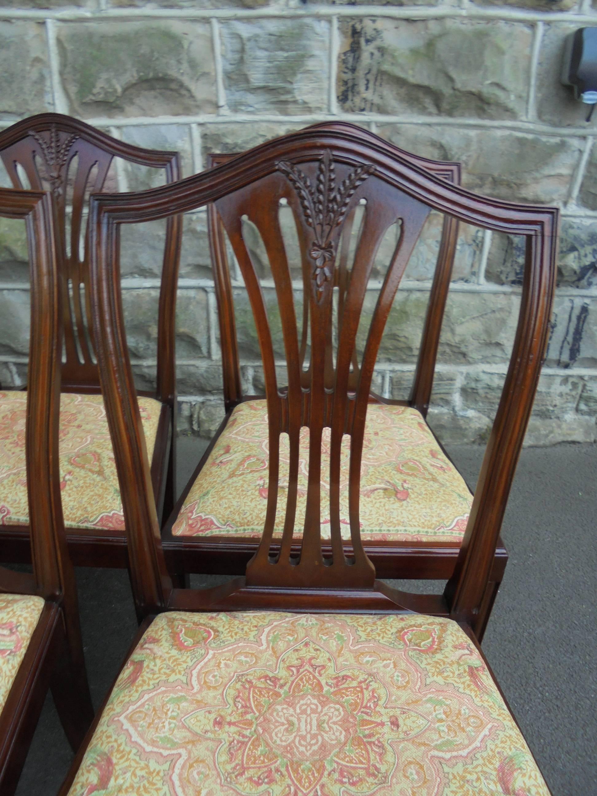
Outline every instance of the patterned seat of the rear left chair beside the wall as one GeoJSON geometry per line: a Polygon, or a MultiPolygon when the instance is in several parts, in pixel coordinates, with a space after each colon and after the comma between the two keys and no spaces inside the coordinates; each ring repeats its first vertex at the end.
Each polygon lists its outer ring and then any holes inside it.
{"type": "MultiPolygon", "coordinates": [[[[0,525],[28,525],[24,391],[0,392],[0,525]]],[[[162,404],[139,398],[150,458],[162,404]]],[[[123,504],[102,396],[60,396],[60,489],[68,528],[124,530],[123,504]]]]}

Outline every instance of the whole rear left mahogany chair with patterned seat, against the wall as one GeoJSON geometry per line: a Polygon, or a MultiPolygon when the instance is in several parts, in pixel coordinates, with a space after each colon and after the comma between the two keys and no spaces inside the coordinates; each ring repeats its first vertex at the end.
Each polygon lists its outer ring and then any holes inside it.
{"type": "MultiPolygon", "coordinates": [[[[114,158],[180,178],[176,152],[145,150],[90,125],[43,113],[0,133],[0,157],[15,188],[48,189],[57,204],[57,260],[63,277],[64,350],[60,418],[60,480],[68,548],[76,566],[127,567],[126,534],[94,353],[89,303],[87,209],[104,189],[114,158]],[[23,183],[28,181],[29,185],[23,183]]],[[[154,391],[139,393],[158,515],[172,510],[175,484],[176,383],[174,310],[181,219],[167,221],[158,309],[158,366],[154,391]]],[[[14,390],[0,402],[0,417],[24,416],[27,396],[14,390]]],[[[29,560],[25,460],[0,462],[0,560],[29,560]]]]}

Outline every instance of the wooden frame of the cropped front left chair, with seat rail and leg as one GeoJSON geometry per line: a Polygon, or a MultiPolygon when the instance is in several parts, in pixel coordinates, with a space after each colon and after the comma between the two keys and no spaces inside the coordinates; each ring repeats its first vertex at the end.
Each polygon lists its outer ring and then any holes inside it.
{"type": "Polygon", "coordinates": [[[45,599],[37,627],[0,712],[0,792],[14,793],[45,693],[52,685],[73,748],[93,718],[68,559],[58,460],[61,295],[49,193],[0,189],[0,215],[25,220],[31,273],[26,462],[33,576],[0,568],[0,591],[45,599]]]}

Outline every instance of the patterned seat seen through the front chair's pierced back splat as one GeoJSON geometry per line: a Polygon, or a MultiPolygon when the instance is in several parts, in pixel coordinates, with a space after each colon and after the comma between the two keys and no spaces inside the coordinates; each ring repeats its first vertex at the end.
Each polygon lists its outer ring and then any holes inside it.
{"type": "MultiPolygon", "coordinates": [[[[295,537],[305,520],[308,429],[301,430],[295,537]]],[[[288,435],[280,439],[275,535],[283,532],[288,485],[288,435]]],[[[260,537],[267,506],[267,404],[240,404],[193,484],[174,524],[174,536],[260,537]]],[[[322,442],[322,532],[329,529],[330,429],[322,442]]],[[[342,443],[340,517],[350,538],[349,437],[342,443]]],[[[416,409],[369,404],[361,465],[363,540],[459,542],[472,495],[439,449],[416,409]]],[[[328,530],[327,537],[330,537],[328,530]]]]}

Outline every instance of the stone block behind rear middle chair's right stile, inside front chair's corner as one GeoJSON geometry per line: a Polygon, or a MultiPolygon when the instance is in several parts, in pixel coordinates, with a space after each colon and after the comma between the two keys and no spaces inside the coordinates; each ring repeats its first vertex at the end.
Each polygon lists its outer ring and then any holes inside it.
{"type": "MultiPolygon", "coordinates": [[[[432,212],[423,227],[411,259],[408,261],[404,279],[433,279],[439,254],[442,226],[443,215],[432,212]]],[[[452,271],[452,279],[455,282],[475,281],[482,248],[482,229],[471,227],[470,224],[460,224],[454,271],[452,271]]]]}

